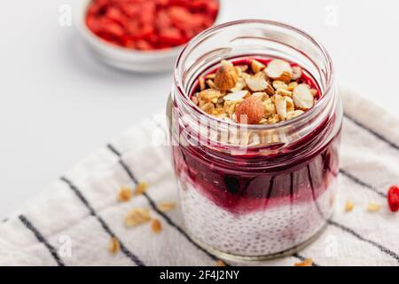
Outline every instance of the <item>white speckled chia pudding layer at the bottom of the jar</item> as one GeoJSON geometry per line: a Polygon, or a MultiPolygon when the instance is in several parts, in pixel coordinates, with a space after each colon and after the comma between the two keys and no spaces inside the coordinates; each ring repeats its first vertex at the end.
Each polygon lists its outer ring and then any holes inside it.
{"type": "Polygon", "coordinates": [[[336,181],[316,199],[287,196],[278,204],[244,213],[217,206],[190,178],[181,178],[178,186],[184,225],[196,240],[234,256],[269,256],[301,245],[325,225],[332,215],[336,181]]]}

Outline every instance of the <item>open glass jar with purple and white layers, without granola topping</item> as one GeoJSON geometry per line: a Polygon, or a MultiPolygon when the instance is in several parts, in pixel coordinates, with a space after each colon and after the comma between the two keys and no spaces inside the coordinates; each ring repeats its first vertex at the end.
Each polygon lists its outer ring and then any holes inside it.
{"type": "Polygon", "coordinates": [[[184,226],[217,256],[262,260],[312,241],[332,215],[342,107],[332,62],[317,41],[269,20],[239,20],[195,37],[176,62],[168,123],[184,226]],[[222,59],[285,59],[322,97],[286,122],[239,125],[203,113],[190,96],[222,59]]]}

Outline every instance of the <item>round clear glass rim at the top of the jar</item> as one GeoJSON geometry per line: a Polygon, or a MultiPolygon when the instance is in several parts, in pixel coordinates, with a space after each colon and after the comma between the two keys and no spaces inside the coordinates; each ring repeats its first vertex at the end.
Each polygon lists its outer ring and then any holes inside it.
{"type": "Polygon", "coordinates": [[[182,61],[184,60],[184,55],[186,54],[187,51],[190,51],[195,45],[200,42],[202,39],[206,38],[208,35],[213,34],[214,32],[221,30],[223,28],[228,28],[231,26],[238,26],[241,24],[264,24],[268,26],[275,26],[278,28],[286,28],[287,30],[291,30],[301,36],[304,36],[309,40],[310,43],[314,44],[315,47],[318,49],[318,51],[321,51],[323,54],[325,60],[326,60],[326,72],[325,72],[325,79],[326,79],[326,86],[325,90],[322,91],[321,98],[318,99],[317,104],[313,106],[312,108],[309,109],[309,111],[305,112],[304,114],[301,114],[297,117],[294,117],[293,119],[289,121],[284,121],[284,122],[278,122],[274,124],[247,124],[246,128],[248,130],[276,130],[279,128],[283,128],[289,125],[293,125],[296,122],[303,122],[309,119],[315,112],[317,112],[323,105],[326,100],[328,100],[332,96],[332,88],[333,88],[333,79],[334,79],[334,67],[332,65],[332,59],[330,57],[330,54],[328,51],[326,51],[324,45],[322,43],[319,43],[317,39],[315,39],[313,36],[310,36],[308,33],[305,31],[301,30],[300,28],[294,28],[291,25],[278,22],[275,20],[257,20],[257,19],[247,19],[247,20],[233,20],[229,21],[217,26],[214,26],[212,28],[207,28],[206,30],[202,31],[199,35],[195,36],[192,38],[192,40],[187,43],[183,50],[179,53],[176,64],[175,64],[175,70],[174,70],[174,75],[173,75],[173,80],[176,85],[176,90],[183,99],[183,102],[186,106],[192,106],[193,110],[196,111],[198,114],[204,115],[207,117],[207,119],[211,121],[217,121],[222,123],[222,125],[225,126],[239,126],[241,125],[238,122],[230,122],[230,121],[224,121],[221,119],[216,118],[215,116],[212,116],[210,114],[206,114],[200,110],[199,107],[194,106],[192,103],[192,100],[190,99],[190,94],[186,93],[184,91],[184,86],[183,86],[183,76],[179,74],[179,67],[182,67],[182,61]]]}

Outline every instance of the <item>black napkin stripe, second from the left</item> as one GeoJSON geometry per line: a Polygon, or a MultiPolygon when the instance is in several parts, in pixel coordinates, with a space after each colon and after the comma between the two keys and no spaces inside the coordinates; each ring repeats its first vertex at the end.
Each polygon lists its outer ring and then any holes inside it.
{"type": "Polygon", "coordinates": [[[126,246],[123,244],[123,242],[116,237],[115,233],[111,230],[111,228],[106,224],[106,221],[102,217],[99,217],[96,210],[90,205],[89,201],[83,196],[82,192],[66,177],[61,177],[60,178],[63,182],[66,183],[66,185],[69,186],[69,188],[76,194],[76,196],[79,198],[80,201],[84,204],[84,206],[89,209],[90,215],[92,217],[95,217],[99,224],[103,227],[104,231],[110,235],[110,237],[115,238],[119,241],[120,246],[121,246],[121,252],[129,257],[131,261],[133,261],[137,266],[145,266],[145,264],[136,256],[134,255],[126,246]]]}

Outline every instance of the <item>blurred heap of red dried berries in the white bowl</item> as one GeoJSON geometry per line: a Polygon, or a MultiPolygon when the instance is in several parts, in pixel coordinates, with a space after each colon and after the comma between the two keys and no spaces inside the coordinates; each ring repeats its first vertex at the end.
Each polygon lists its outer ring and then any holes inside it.
{"type": "Polygon", "coordinates": [[[93,0],[86,25],[106,42],[150,51],[187,43],[218,12],[218,0],[93,0]]]}

